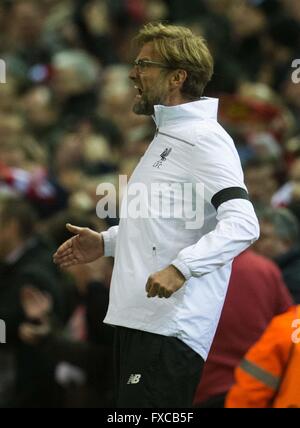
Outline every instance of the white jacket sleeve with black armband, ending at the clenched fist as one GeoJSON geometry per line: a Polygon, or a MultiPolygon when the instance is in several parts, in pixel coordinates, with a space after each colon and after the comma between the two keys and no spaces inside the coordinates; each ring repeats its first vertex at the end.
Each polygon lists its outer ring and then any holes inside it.
{"type": "Polygon", "coordinates": [[[193,179],[204,186],[205,202],[217,210],[217,225],[197,243],[181,250],[172,262],[187,280],[231,262],[259,237],[258,220],[247,200],[232,140],[222,133],[200,138],[191,163],[193,179]]]}

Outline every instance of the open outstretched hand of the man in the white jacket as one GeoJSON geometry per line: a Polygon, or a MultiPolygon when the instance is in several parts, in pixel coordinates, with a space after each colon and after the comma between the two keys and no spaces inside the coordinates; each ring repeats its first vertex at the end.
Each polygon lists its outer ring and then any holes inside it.
{"type": "Polygon", "coordinates": [[[54,263],[67,268],[91,263],[104,255],[104,243],[100,233],[71,224],[67,224],[67,229],[76,236],[59,247],[53,256],[54,263]]]}

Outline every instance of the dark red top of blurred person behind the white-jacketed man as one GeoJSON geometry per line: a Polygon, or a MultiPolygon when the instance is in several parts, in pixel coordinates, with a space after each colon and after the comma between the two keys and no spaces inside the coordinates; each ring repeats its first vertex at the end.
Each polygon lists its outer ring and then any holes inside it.
{"type": "Polygon", "coordinates": [[[277,266],[248,250],[233,263],[224,309],[194,404],[227,393],[234,369],[276,315],[293,304],[277,266]]]}

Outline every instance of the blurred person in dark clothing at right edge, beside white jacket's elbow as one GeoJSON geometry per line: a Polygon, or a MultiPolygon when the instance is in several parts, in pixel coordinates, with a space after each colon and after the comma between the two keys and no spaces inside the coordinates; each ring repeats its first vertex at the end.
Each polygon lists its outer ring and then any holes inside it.
{"type": "Polygon", "coordinates": [[[295,301],[300,303],[299,224],[287,208],[268,209],[259,216],[261,237],[255,250],[280,268],[295,301]]]}

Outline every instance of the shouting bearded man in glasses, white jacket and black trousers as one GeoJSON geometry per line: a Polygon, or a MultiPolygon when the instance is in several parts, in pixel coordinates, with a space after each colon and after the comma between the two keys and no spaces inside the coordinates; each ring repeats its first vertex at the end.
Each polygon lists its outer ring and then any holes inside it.
{"type": "MultiPolygon", "coordinates": [[[[137,42],[133,110],[154,115],[156,135],[128,183],[119,226],[99,235],[68,225],[76,236],[54,260],[68,267],[115,258],[104,322],[116,326],[118,407],[190,407],[232,260],[257,239],[259,227],[234,144],[216,120],[218,102],[201,98],[213,72],[205,42],[187,28],[162,24],[146,25],[137,42]],[[124,215],[135,203],[131,190],[143,184],[143,195],[151,193],[153,183],[198,183],[203,225],[193,229],[185,210],[177,218],[124,215]]],[[[152,191],[153,206],[165,206],[167,193],[152,191]]],[[[178,212],[185,202],[175,197],[172,208],[178,212]]]]}

